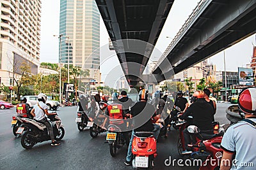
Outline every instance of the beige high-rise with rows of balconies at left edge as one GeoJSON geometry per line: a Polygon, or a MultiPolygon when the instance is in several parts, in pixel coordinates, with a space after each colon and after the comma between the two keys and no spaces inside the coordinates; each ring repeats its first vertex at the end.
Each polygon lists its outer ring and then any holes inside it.
{"type": "Polygon", "coordinates": [[[0,1],[0,83],[15,85],[20,66],[27,62],[38,73],[40,55],[41,0],[0,1]]]}

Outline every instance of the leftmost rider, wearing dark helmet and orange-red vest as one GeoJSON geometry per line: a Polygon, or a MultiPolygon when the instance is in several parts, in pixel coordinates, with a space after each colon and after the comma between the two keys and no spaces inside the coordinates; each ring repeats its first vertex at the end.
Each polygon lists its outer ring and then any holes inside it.
{"type": "Polygon", "coordinates": [[[26,97],[20,98],[20,103],[17,104],[16,112],[19,117],[33,118],[30,114],[29,104],[27,103],[26,97]]]}

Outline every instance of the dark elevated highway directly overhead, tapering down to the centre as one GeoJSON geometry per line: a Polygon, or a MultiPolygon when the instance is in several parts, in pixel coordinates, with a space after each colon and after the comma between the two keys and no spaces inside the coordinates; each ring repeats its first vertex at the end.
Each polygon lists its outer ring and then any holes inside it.
{"type": "Polygon", "coordinates": [[[129,85],[138,85],[174,0],[95,1],[129,85]]]}

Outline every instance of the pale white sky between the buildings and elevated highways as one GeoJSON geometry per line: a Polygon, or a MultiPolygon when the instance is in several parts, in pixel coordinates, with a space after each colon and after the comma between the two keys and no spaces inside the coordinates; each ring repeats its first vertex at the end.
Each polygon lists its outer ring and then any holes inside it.
{"type": "MultiPolygon", "coordinates": [[[[180,27],[184,24],[185,20],[191,14],[199,0],[176,0],[173,3],[172,9],[166,19],[163,31],[156,43],[156,47],[161,52],[164,52],[166,47],[175,37],[180,27]],[[182,12],[180,12],[182,9],[182,12]],[[175,17],[173,17],[175,16],[175,17]],[[169,37],[169,38],[166,38],[169,37]]],[[[43,0],[42,1],[42,22],[41,22],[41,50],[40,62],[58,62],[58,37],[54,34],[59,34],[59,16],[60,16],[60,1],[59,0],[43,0]]],[[[115,67],[116,71],[121,71],[120,64],[115,55],[115,52],[108,50],[108,32],[100,17],[100,72],[102,79],[108,78],[109,65],[115,67]],[[103,55],[108,53],[108,59],[103,55]]],[[[252,57],[252,48],[255,43],[255,34],[236,45],[231,46],[225,50],[226,71],[237,71],[237,67],[245,67],[250,63],[252,57]]],[[[154,56],[153,60],[157,60],[160,56],[154,56]]],[[[224,71],[223,52],[209,58],[209,62],[216,64],[217,71],[224,71]]],[[[113,71],[112,70],[112,71],[113,71]]],[[[114,80],[109,80],[114,81],[114,80]]]]}

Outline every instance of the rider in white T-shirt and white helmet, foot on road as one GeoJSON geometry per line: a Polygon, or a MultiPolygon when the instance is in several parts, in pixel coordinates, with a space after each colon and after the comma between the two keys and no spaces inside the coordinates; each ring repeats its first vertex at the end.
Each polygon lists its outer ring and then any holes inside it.
{"type": "Polygon", "coordinates": [[[60,143],[58,143],[57,141],[55,141],[54,139],[54,134],[53,134],[53,130],[52,130],[52,125],[51,123],[47,120],[47,117],[45,117],[45,115],[49,116],[49,115],[56,115],[56,113],[48,113],[47,111],[47,105],[45,104],[47,97],[45,94],[40,93],[38,94],[38,101],[39,103],[35,104],[34,108],[31,110],[31,115],[33,115],[33,117],[35,117],[35,120],[41,124],[44,124],[49,132],[49,135],[51,137],[52,146],[57,146],[60,145],[60,143]]]}

